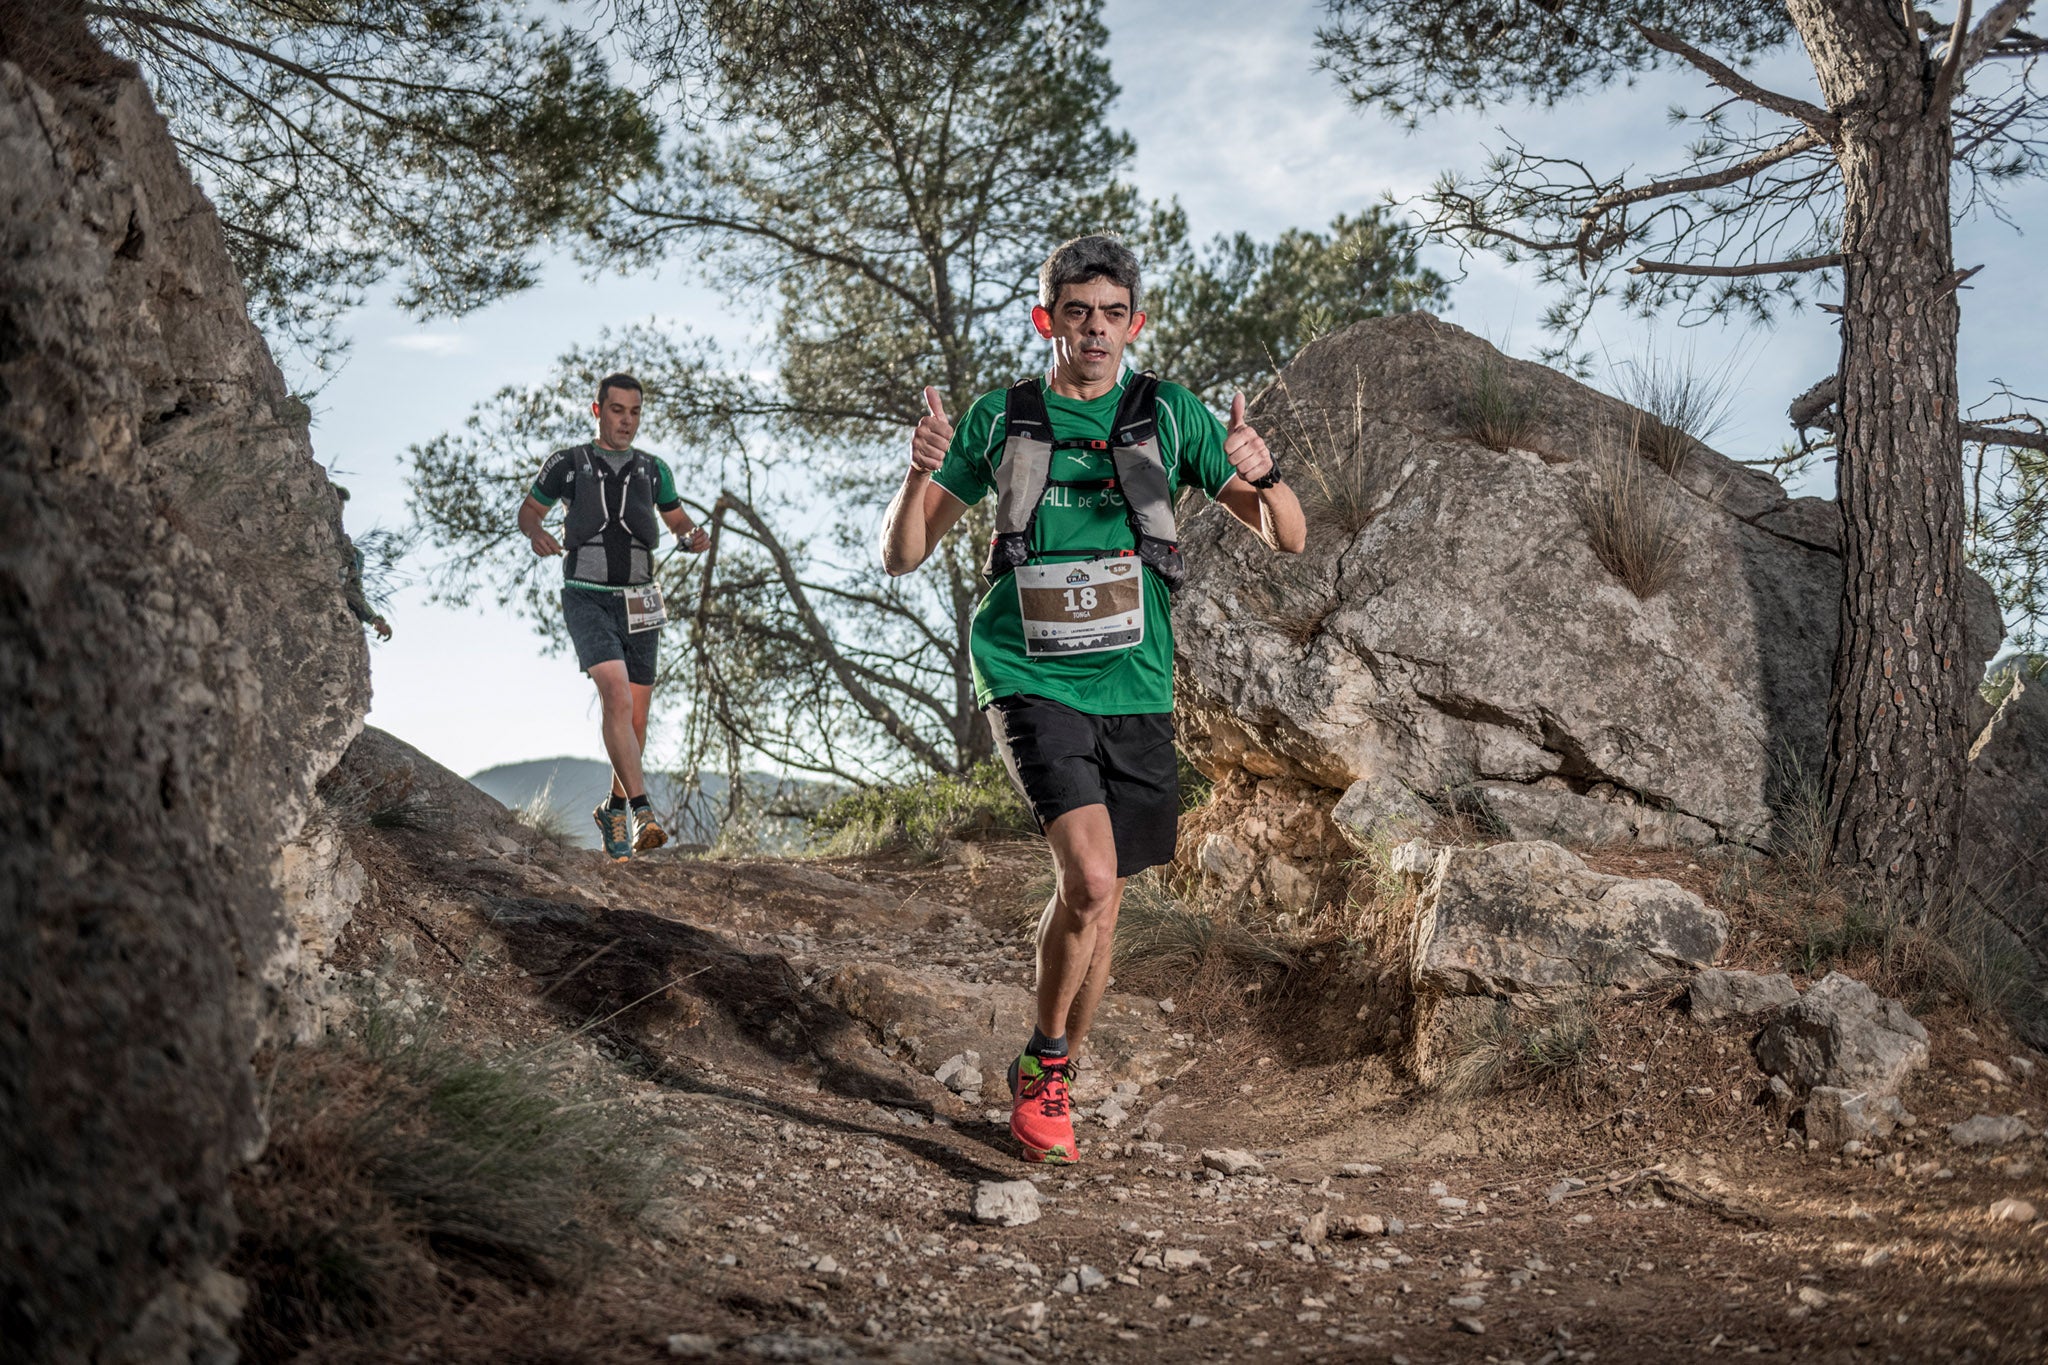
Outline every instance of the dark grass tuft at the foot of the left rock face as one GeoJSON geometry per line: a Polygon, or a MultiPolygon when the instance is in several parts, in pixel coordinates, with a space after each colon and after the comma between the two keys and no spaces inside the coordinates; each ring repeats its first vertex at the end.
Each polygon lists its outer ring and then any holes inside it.
{"type": "Polygon", "coordinates": [[[594,1224],[639,1207],[651,1175],[621,1111],[381,1009],[274,1054],[268,1121],[227,1265],[252,1289],[238,1338],[258,1361],[430,1320],[449,1285],[510,1302],[575,1283],[604,1252],[594,1224]]]}

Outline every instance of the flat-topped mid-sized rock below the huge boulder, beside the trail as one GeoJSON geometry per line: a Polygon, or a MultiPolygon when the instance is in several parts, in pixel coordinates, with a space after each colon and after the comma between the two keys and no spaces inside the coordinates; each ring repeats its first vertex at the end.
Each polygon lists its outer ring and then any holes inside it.
{"type": "Polygon", "coordinates": [[[1542,999],[1704,968],[1729,919],[1677,882],[1593,872],[1554,843],[1442,849],[1415,907],[1419,995],[1542,999]]]}

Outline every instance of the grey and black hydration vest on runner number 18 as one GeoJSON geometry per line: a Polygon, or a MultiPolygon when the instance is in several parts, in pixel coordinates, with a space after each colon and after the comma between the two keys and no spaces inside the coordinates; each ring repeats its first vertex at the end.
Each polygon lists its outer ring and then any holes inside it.
{"type": "Polygon", "coordinates": [[[1053,420],[1044,409],[1038,381],[1022,379],[1010,385],[1004,399],[1004,463],[995,471],[995,536],[989,538],[983,577],[993,583],[1018,565],[1030,563],[1032,528],[1047,489],[1118,489],[1124,495],[1124,522],[1130,526],[1139,563],[1157,573],[1169,589],[1180,587],[1184,567],[1174,532],[1174,493],[1165,481],[1165,460],[1159,456],[1157,393],[1157,375],[1149,370],[1130,375],[1124,395],[1116,401],[1110,440],[1053,440],[1053,420]],[[1055,450],[1108,450],[1116,477],[1055,479],[1055,450]]]}

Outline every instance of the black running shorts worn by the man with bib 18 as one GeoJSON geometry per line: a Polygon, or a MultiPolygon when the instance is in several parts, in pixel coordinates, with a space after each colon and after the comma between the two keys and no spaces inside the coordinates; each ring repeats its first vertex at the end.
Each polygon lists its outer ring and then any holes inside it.
{"type": "Polygon", "coordinates": [[[1081,806],[1108,806],[1116,876],[1174,862],[1180,765],[1171,712],[1090,716],[1042,696],[999,696],[987,716],[1038,829],[1081,806]]]}

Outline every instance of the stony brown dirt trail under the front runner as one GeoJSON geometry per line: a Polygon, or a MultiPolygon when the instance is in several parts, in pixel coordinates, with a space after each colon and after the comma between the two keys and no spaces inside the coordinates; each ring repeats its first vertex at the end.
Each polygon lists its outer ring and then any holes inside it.
{"type": "Polygon", "coordinates": [[[1085,1117],[1083,1162],[1044,1171],[989,1121],[1034,845],[918,868],[356,843],[373,896],[340,966],[418,982],[461,1038],[551,1046],[666,1142],[592,1283],[451,1310],[410,1359],[2048,1359],[2048,1224],[1987,1214],[2048,1212],[2042,1140],[1944,1136],[1976,1111],[2040,1126],[2048,1074],[1972,1083],[1972,1056],[2019,1048],[1954,1021],[1927,1019],[1898,1156],[1841,1164],[1784,1146],[1745,1033],[1657,999],[1616,1005],[1581,1093],[1460,1105],[1307,1046],[1303,1021],[1352,1025],[1335,976],[1284,1031],[1118,997],[1079,1103],[1122,1081],[1128,1117],[1085,1117]],[[975,1038],[979,1103],[932,1078],[975,1038]],[[1208,1171],[1212,1148],[1257,1166],[1208,1171]],[[1014,1179],[1042,1218],[975,1224],[977,1183],[1014,1179]]]}

